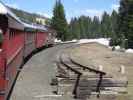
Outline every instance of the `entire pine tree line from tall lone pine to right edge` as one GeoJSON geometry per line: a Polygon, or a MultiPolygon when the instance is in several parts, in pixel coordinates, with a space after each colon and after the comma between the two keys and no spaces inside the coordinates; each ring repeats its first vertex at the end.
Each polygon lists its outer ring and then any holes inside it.
{"type": "Polygon", "coordinates": [[[63,41],[82,38],[110,38],[110,45],[133,48],[133,0],[120,0],[118,12],[109,15],[74,17],[68,24],[61,0],[56,0],[50,25],[63,41]]]}

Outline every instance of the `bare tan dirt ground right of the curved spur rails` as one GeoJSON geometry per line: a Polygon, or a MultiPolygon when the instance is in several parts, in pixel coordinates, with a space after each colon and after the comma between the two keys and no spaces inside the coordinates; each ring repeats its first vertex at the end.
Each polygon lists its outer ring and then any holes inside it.
{"type": "Polygon", "coordinates": [[[72,49],[71,55],[81,64],[95,69],[103,66],[102,71],[112,75],[116,80],[128,80],[128,94],[119,96],[118,100],[133,100],[133,54],[112,51],[98,43],[83,44],[72,49]],[[125,66],[125,74],[120,67],[125,66]]]}

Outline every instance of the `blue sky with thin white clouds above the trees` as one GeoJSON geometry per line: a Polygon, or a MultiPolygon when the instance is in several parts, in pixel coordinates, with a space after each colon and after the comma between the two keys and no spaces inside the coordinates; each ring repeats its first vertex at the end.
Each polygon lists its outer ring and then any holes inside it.
{"type": "MultiPolygon", "coordinates": [[[[2,0],[3,3],[18,9],[32,13],[39,13],[46,17],[52,16],[56,0],[2,0]]],[[[119,0],[61,0],[68,22],[72,17],[99,16],[104,11],[109,14],[115,9],[118,10],[119,0]]]]}

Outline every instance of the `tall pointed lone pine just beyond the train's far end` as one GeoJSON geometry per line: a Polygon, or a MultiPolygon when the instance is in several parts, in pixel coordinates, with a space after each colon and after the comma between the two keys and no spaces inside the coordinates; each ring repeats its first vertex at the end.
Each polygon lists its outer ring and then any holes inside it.
{"type": "Polygon", "coordinates": [[[67,40],[68,26],[61,0],[56,0],[51,26],[57,31],[57,38],[63,41],[67,40]]]}

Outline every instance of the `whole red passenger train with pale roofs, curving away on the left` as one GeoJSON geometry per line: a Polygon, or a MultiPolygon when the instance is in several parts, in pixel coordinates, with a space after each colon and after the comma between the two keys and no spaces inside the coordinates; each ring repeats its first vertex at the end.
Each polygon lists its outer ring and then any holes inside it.
{"type": "Polygon", "coordinates": [[[24,58],[53,43],[55,35],[44,26],[22,22],[0,3],[0,100],[6,100],[24,58]]]}

